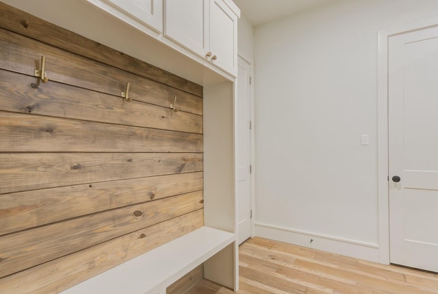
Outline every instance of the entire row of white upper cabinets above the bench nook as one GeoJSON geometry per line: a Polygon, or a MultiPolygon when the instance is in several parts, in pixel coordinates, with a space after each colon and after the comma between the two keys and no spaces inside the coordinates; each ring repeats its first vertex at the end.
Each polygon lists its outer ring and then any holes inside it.
{"type": "Polygon", "coordinates": [[[222,75],[237,77],[232,0],[87,0],[222,75]]]}

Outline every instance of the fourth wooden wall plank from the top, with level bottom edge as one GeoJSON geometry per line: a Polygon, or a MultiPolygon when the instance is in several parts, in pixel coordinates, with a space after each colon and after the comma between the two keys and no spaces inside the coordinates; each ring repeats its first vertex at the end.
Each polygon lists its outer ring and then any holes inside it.
{"type": "Polygon", "coordinates": [[[11,150],[16,152],[203,151],[201,134],[2,111],[0,111],[0,138],[0,152],[11,150]]]}

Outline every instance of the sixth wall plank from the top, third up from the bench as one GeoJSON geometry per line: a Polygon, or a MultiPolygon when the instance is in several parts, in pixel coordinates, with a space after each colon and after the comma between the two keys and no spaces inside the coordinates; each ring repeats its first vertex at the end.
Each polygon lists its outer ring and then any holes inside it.
{"type": "Polygon", "coordinates": [[[0,235],[202,189],[198,172],[3,194],[0,235]]]}

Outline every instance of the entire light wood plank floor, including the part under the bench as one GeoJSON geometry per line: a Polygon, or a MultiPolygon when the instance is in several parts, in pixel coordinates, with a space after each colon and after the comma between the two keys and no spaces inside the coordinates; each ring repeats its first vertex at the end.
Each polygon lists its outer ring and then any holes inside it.
{"type": "MultiPolygon", "coordinates": [[[[438,274],[379,265],[263,238],[240,246],[239,294],[438,293],[438,274]]],[[[231,294],[203,280],[190,294],[231,294]]]]}

